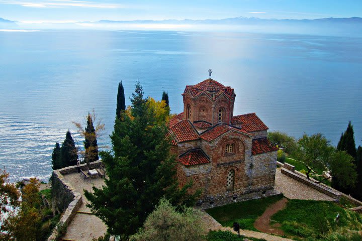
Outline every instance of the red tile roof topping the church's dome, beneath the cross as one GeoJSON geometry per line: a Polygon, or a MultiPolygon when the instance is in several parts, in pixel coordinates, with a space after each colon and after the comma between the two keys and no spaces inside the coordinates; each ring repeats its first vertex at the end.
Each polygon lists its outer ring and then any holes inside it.
{"type": "Polygon", "coordinates": [[[232,98],[234,94],[234,89],[230,86],[224,86],[213,79],[206,79],[195,85],[186,85],[184,94],[187,91],[190,91],[193,97],[205,93],[213,99],[219,97],[223,93],[225,93],[229,98],[232,98]]]}

